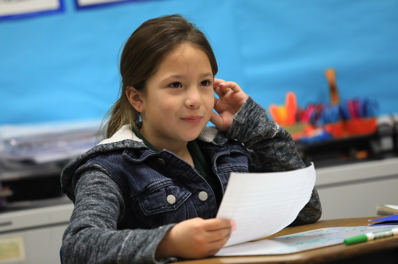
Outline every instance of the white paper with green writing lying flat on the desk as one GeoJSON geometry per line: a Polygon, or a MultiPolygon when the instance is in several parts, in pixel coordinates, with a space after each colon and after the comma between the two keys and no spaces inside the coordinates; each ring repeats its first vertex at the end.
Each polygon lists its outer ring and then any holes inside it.
{"type": "Polygon", "coordinates": [[[398,227],[398,225],[390,227],[356,226],[321,228],[283,237],[233,245],[222,248],[215,256],[291,254],[341,244],[346,238],[363,235],[368,232],[390,230],[394,227],[398,227]]]}

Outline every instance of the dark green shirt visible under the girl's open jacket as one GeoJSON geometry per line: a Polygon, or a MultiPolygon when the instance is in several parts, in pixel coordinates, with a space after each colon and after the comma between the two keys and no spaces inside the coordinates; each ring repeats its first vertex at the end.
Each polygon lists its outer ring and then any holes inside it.
{"type": "MultiPolygon", "coordinates": [[[[153,151],[158,152],[158,150],[152,146],[151,143],[148,142],[141,134],[139,130],[133,128],[134,134],[144,141],[144,144],[152,149],[153,151]]],[[[217,209],[220,206],[221,199],[222,199],[222,192],[221,192],[221,185],[217,177],[215,176],[213,170],[211,169],[211,162],[209,159],[206,159],[201,151],[197,140],[189,141],[188,142],[188,151],[191,154],[192,160],[194,161],[194,166],[200,176],[202,176],[207,183],[210,185],[211,189],[214,192],[215,201],[217,203],[217,209]]]]}

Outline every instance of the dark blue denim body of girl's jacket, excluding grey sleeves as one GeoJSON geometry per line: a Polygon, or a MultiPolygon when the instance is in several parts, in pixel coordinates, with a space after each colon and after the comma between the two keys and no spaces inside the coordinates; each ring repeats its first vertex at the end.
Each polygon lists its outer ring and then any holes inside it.
{"type": "MultiPolygon", "coordinates": [[[[130,130],[130,126],[123,129],[130,130]]],[[[167,150],[156,153],[139,142],[133,144],[134,148],[89,161],[109,172],[128,201],[121,228],[150,229],[194,217],[215,217],[218,208],[213,191],[194,167],[167,150]]],[[[222,193],[231,172],[249,171],[248,151],[237,141],[223,145],[199,141],[199,145],[211,157],[222,193]]]]}

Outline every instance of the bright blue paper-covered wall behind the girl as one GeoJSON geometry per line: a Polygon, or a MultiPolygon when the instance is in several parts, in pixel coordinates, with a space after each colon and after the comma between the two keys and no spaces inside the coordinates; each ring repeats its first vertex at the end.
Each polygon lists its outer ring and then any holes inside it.
{"type": "Polygon", "coordinates": [[[370,97],[398,112],[397,0],[148,0],[0,21],[0,125],[100,119],[116,100],[118,55],[144,20],[182,13],[208,35],[218,78],[265,108],[370,97]]]}

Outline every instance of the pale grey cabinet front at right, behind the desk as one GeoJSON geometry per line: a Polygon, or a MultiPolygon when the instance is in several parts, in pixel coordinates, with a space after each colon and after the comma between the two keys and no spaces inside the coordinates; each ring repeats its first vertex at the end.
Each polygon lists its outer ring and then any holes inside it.
{"type": "Polygon", "coordinates": [[[377,216],[377,204],[398,204],[398,158],[316,169],[322,219],[377,216]]]}

